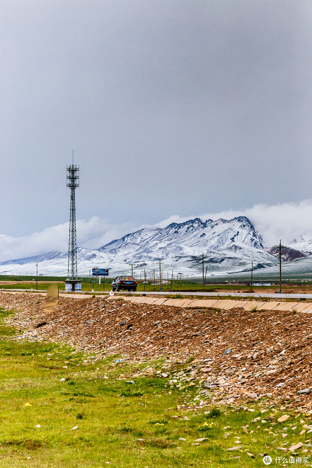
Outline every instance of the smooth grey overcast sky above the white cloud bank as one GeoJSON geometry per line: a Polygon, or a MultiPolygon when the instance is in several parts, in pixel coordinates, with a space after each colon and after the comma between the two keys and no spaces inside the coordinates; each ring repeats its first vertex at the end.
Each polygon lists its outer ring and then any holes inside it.
{"type": "Polygon", "coordinates": [[[68,221],[72,150],[103,232],[311,198],[311,30],[311,1],[0,1],[0,233],[68,221]]]}

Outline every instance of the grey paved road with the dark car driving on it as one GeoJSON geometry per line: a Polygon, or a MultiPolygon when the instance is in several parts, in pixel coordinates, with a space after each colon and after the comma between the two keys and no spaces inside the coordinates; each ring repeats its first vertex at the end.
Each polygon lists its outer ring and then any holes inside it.
{"type": "MultiPolygon", "coordinates": [[[[36,291],[36,289],[1,289],[1,292],[25,292],[25,291],[28,291],[28,292],[41,292],[41,293],[45,293],[46,291],[43,290],[43,289],[38,289],[36,291]]],[[[88,292],[88,291],[87,291],[88,292]]],[[[94,291],[95,292],[95,291],[94,291]]],[[[101,291],[97,291],[97,293],[100,292],[103,294],[103,292],[101,291]]],[[[62,291],[60,292],[60,295],[62,295],[63,297],[66,296],[67,294],[71,294],[73,297],[79,297],[80,294],[85,294],[86,291],[75,291],[74,293],[71,293],[71,292],[65,292],[65,291],[62,291]]],[[[90,293],[88,292],[88,295],[90,293]]],[[[109,292],[104,292],[104,294],[109,294],[109,292]]],[[[116,292],[116,294],[129,294],[129,292],[127,291],[122,291],[122,292],[116,292]]],[[[138,291],[138,292],[132,292],[132,294],[156,294],[156,295],[170,295],[170,294],[178,294],[178,292],[168,292],[168,291],[147,291],[147,292],[142,292],[142,291],[138,291]]],[[[279,293],[259,293],[259,292],[181,292],[181,294],[183,296],[205,296],[205,297],[223,297],[223,296],[235,296],[235,297],[263,297],[263,298],[272,298],[272,299],[285,299],[285,298],[291,298],[291,299],[298,299],[298,298],[306,298],[306,299],[312,299],[312,294],[279,294],[279,293]]]]}

